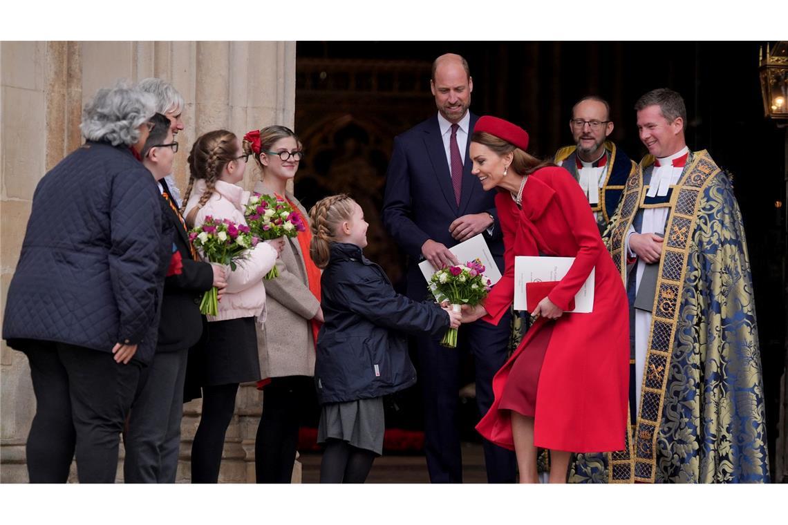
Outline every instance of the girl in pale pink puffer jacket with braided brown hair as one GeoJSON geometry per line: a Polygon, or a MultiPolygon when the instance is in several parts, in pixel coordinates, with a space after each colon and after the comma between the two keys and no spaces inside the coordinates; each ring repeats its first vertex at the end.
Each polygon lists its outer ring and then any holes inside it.
{"type": "MultiPolygon", "coordinates": [[[[243,208],[249,192],[236,185],[243,180],[246,162],[236,135],[217,130],[199,137],[191,146],[188,165],[186,223],[199,226],[213,216],[246,224],[243,208]]],[[[262,278],[273,268],[283,244],[281,239],[259,242],[235,271],[227,272],[217,316],[207,316],[207,337],[193,353],[198,363],[190,357],[190,372],[199,375],[203,387],[203,414],[191,446],[193,483],[217,482],[238,386],[260,379],[255,319],[258,323],[266,320],[262,278]]]]}

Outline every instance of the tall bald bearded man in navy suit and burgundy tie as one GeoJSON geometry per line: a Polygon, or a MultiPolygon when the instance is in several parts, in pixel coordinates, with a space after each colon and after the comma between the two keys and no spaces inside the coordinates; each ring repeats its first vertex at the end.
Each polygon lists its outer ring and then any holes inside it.
{"type": "MultiPolygon", "coordinates": [[[[485,193],[470,175],[468,146],[478,117],[468,111],[474,83],[465,59],[456,54],[438,57],[430,88],[438,113],[394,139],[382,217],[410,259],[407,294],[418,300],[427,295],[418,262],[426,259],[435,268],[456,264],[449,248],[474,235],[485,236],[496,264],[504,271],[495,192],[485,193]]],[[[465,325],[456,349],[418,338],[418,381],[432,482],[463,481],[459,444],[462,357],[468,349],[474,356],[476,401],[479,412],[485,414],[492,404],[492,376],[507,357],[510,324],[511,314],[507,314],[497,327],[484,321],[465,325]]],[[[486,441],[484,449],[489,482],[514,482],[514,453],[486,441]]]]}

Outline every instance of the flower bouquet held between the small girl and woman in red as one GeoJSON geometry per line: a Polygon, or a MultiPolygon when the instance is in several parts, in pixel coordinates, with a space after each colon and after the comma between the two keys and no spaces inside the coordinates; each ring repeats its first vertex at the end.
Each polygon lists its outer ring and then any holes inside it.
{"type": "MultiPolygon", "coordinates": [[[[435,272],[429,279],[429,290],[438,301],[451,302],[452,309],[459,312],[463,305],[475,306],[487,297],[490,279],[484,274],[485,266],[478,260],[447,266],[435,272]]],[[[456,348],[457,329],[449,328],[440,344],[456,348]]]]}

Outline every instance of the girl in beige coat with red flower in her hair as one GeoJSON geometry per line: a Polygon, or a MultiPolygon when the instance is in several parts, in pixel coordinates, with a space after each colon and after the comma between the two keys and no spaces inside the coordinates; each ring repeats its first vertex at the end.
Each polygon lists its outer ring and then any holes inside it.
{"type": "Polygon", "coordinates": [[[243,153],[255,159],[260,179],[255,192],[286,198],[307,226],[286,238],[277,260],[279,276],[264,281],[268,297],[266,324],[258,328],[262,417],[255,441],[258,483],[288,483],[296,460],[299,424],[314,412],[314,349],[323,322],[320,308],[321,272],[309,253],[309,216],[287,189],[303,157],[296,134],[284,126],[249,131],[243,153]]]}

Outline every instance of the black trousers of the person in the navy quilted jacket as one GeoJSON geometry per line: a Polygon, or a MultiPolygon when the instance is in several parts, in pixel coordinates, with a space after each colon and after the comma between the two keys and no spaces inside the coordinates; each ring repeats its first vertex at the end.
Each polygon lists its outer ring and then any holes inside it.
{"type": "Polygon", "coordinates": [[[66,482],[75,453],[80,483],[114,482],[141,365],[117,364],[109,352],[46,341],[30,342],[24,353],[36,401],[27,444],[30,482],[66,482]]]}

